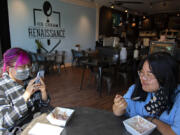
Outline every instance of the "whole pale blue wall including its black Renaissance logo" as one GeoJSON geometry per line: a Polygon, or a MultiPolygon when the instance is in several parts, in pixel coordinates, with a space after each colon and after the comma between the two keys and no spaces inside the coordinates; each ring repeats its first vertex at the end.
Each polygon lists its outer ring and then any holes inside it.
{"type": "Polygon", "coordinates": [[[38,47],[35,40],[39,40],[48,51],[41,48],[41,53],[66,51],[65,63],[68,64],[72,61],[71,49],[75,44],[80,44],[83,50],[95,47],[95,7],[59,0],[8,0],[8,13],[11,47],[36,53],[38,47]],[[31,31],[28,31],[29,28],[31,31]],[[36,36],[37,30],[48,32],[40,31],[36,36]],[[54,35],[51,37],[52,33],[54,35]]]}

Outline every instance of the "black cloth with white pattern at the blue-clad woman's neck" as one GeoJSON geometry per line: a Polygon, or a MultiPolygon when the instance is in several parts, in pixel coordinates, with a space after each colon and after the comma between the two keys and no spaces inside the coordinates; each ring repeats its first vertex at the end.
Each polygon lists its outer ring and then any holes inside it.
{"type": "Polygon", "coordinates": [[[165,95],[164,89],[160,88],[151,98],[145,109],[150,114],[160,116],[166,109],[168,109],[168,96],[165,95]]]}

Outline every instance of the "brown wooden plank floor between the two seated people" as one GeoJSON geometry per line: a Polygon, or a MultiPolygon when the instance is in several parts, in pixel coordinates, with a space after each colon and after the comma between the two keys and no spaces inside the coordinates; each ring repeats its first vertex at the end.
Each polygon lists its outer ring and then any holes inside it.
{"type": "MultiPolygon", "coordinates": [[[[123,80],[119,79],[113,85],[109,95],[107,87],[103,83],[102,96],[96,90],[96,83],[93,78],[89,80],[89,71],[85,72],[83,88],[80,90],[82,69],[80,67],[69,67],[61,73],[49,73],[45,77],[46,86],[51,96],[51,104],[60,107],[86,106],[97,109],[112,111],[113,98],[117,92],[124,94],[127,90],[123,80]]],[[[130,85],[130,84],[129,84],[130,85]]]]}

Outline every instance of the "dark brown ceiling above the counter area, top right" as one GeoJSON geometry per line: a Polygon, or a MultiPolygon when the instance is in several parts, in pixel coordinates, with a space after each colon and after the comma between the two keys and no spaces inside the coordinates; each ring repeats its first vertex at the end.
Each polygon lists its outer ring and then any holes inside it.
{"type": "MultiPolygon", "coordinates": [[[[115,0],[83,0],[92,3],[96,3],[100,6],[111,6],[111,2],[114,3],[115,0]]],[[[134,12],[135,14],[145,13],[145,14],[157,14],[157,13],[170,13],[178,12],[180,13],[180,0],[117,0],[117,1],[133,1],[133,2],[143,2],[143,4],[127,4],[123,3],[120,6],[114,6],[115,9],[125,10],[134,12]]]]}

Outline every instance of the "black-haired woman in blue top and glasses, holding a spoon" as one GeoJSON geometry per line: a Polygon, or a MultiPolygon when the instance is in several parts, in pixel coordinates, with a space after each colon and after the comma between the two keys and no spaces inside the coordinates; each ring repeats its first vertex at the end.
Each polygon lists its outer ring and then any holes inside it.
{"type": "Polygon", "coordinates": [[[180,86],[176,61],[165,52],[147,56],[139,65],[139,77],[124,96],[116,95],[116,116],[141,115],[157,125],[163,135],[180,135],[180,86]]]}

